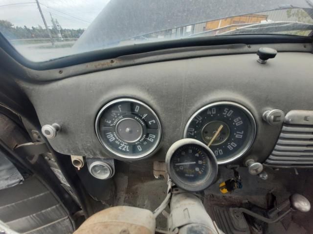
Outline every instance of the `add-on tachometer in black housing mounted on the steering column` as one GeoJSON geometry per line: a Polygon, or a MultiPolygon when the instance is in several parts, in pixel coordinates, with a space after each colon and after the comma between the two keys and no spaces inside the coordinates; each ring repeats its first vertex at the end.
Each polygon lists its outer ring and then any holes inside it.
{"type": "Polygon", "coordinates": [[[165,162],[173,182],[187,191],[206,189],[218,171],[212,150],[195,139],[182,139],[174,143],[166,154],[165,162]]]}

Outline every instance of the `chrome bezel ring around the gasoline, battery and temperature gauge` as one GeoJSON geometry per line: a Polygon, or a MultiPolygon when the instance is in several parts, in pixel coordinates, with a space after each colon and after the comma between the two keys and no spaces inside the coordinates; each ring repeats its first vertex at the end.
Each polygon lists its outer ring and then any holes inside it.
{"type": "Polygon", "coordinates": [[[110,153],[112,153],[114,156],[116,157],[119,157],[119,158],[123,158],[123,159],[128,159],[128,160],[138,160],[138,159],[143,159],[143,158],[146,158],[146,157],[149,157],[153,154],[153,152],[158,148],[159,144],[160,144],[160,141],[161,141],[161,138],[162,138],[162,127],[161,127],[161,123],[160,123],[160,120],[159,118],[157,117],[156,115],[156,112],[148,105],[146,105],[145,103],[141,102],[141,101],[138,101],[136,99],[133,99],[133,98],[119,98],[119,99],[115,99],[109,103],[107,103],[105,106],[103,106],[98,114],[97,114],[97,117],[96,117],[96,120],[95,120],[95,132],[96,132],[96,135],[98,137],[98,140],[100,141],[101,145],[107,149],[110,153]],[[147,152],[145,153],[142,153],[140,155],[136,155],[136,156],[129,156],[129,155],[125,155],[125,154],[121,154],[119,152],[116,152],[114,151],[113,149],[111,149],[110,146],[108,146],[104,140],[102,139],[101,135],[100,135],[100,129],[99,129],[99,121],[100,121],[100,118],[103,114],[103,112],[108,109],[110,106],[113,106],[117,103],[120,103],[120,102],[133,102],[133,103],[136,103],[136,104],[139,104],[139,105],[142,105],[144,106],[145,108],[147,108],[152,114],[153,116],[156,118],[156,122],[157,122],[157,126],[158,126],[158,137],[156,139],[156,144],[150,149],[148,150],[147,152]]]}

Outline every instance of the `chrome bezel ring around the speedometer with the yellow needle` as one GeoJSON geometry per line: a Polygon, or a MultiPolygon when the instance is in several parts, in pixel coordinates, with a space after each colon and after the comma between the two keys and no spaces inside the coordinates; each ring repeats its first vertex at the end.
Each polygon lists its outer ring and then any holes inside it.
{"type": "Polygon", "coordinates": [[[203,110],[207,109],[207,108],[210,108],[210,107],[213,107],[213,106],[221,106],[221,105],[229,105],[229,106],[236,106],[238,108],[240,108],[242,111],[244,111],[250,121],[250,124],[251,124],[251,137],[249,138],[249,141],[246,143],[246,146],[244,147],[244,149],[242,149],[240,152],[238,152],[236,155],[232,156],[232,157],[229,157],[229,158],[226,158],[226,159],[223,159],[223,160],[218,160],[217,159],[217,162],[219,165],[222,165],[222,164],[227,164],[227,163],[230,163],[230,162],[233,162],[239,158],[241,158],[242,156],[244,156],[246,154],[246,152],[251,148],[254,140],[255,140],[255,136],[256,136],[256,131],[257,131],[257,128],[256,128],[256,122],[255,122],[255,119],[253,117],[253,115],[251,114],[251,112],[245,107],[245,106],[242,106],[238,103],[234,103],[234,102],[229,102],[229,101],[222,101],[222,102],[215,102],[215,103],[210,103],[206,106],[203,106],[202,108],[200,108],[199,110],[197,110],[191,117],[190,119],[188,120],[186,126],[185,126],[185,129],[184,129],[184,133],[183,133],[183,138],[186,138],[187,137],[187,130],[188,130],[188,127],[191,123],[191,121],[193,121],[193,119],[196,117],[196,115],[198,115],[199,113],[201,113],[203,110]]]}

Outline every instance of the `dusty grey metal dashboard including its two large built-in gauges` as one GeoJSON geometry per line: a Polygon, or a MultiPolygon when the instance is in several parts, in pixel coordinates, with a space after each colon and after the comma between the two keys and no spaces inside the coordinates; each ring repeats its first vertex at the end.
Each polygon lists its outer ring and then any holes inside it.
{"type": "Polygon", "coordinates": [[[54,82],[19,81],[41,125],[57,123],[53,149],[122,161],[165,161],[182,138],[209,146],[219,165],[264,162],[280,136],[263,113],[311,110],[311,53],[281,52],[139,64],[54,82]]]}

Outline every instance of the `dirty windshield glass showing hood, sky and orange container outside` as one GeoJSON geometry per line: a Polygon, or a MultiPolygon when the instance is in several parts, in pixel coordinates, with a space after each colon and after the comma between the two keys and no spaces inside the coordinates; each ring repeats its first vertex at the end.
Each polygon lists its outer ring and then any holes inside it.
{"type": "Polygon", "coordinates": [[[311,36],[311,0],[0,0],[0,32],[43,62],[99,49],[244,34],[311,36]]]}

